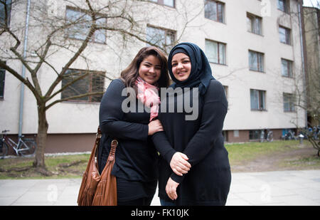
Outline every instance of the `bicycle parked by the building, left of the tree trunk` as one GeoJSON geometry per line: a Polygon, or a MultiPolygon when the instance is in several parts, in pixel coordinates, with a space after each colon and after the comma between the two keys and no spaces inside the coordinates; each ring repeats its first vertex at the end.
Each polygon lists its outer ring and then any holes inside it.
{"type": "Polygon", "coordinates": [[[36,152],[36,141],[33,138],[18,137],[18,142],[14,142],[6,135],[9,130],[3,130],[0,139],[0,158],[3,159],[8,154],[9,146],[14,149],[17,155],[32,155],[36,152]]]}

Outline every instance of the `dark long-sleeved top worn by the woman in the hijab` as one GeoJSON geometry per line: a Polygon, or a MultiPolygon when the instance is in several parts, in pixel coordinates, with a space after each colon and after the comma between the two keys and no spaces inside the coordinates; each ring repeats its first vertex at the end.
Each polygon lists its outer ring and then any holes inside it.
{"type": "MultiPolygon", "coordinates": [[[[161,100],[161,103],[164,103],[161,100]]],[[[169,103],[169,102],[167,102],[169,103]]],[[[228,110],[223,85],[211,80],[203,98],[199,97],[198,118],[185,120],[186,112],[160,112],[164,132],[152,139],[161,154],[159,197],[169,200],[166,182],[169,177],[180,183],[178,205],[224,205],[230,189],[230,164],[223,144],[223,121],[228,110]],[[191,169],[182,177],[169,166],[175,152],[188,156],[191,169]]]]}

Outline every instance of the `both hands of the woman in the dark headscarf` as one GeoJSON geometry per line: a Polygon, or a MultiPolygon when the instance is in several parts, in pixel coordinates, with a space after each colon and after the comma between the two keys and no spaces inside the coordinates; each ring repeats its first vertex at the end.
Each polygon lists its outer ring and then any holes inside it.
{"type": "MultiPolygon", "coordinates": [[[[176,152],[171,159],[170,167],[178,176],[188,173],[191,168],[191,164],[187,161],[188,157],[186,154],[181,152],[176,152]]],[[[168,182],[166,183],[166,194],[172,200],[178,198],[176,194],[176,188],[178,187],[178,182],[175,182],[171,177],[169,177],[168,182]]]]}

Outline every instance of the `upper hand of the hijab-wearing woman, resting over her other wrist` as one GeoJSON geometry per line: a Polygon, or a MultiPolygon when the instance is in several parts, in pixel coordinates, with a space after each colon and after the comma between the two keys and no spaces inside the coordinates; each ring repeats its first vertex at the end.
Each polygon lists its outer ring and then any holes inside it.
{"type": "Polygon", "coordinates": [[[176,152],[170,161],[172,171],[174,171],[178,176],[186,174],[191,168],[191,164],[189,164],[187,160],[188,157],[186,154],[176,152]]]}

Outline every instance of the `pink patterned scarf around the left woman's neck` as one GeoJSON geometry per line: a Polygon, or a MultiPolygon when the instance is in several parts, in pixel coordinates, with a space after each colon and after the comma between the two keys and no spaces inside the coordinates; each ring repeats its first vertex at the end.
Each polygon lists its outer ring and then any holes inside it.
{"type": "Polygon", "coordinates": [[[137,99],[140,100],[144,105],[151,109],[150,112],[150,122],[154,117],[158,116],[159,111],[159,88],[138,77],[136,80],[136,85],[138,87],[137,99]]]}

